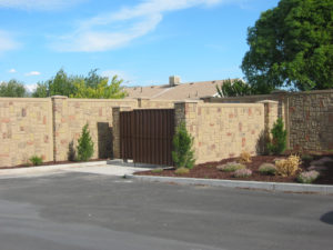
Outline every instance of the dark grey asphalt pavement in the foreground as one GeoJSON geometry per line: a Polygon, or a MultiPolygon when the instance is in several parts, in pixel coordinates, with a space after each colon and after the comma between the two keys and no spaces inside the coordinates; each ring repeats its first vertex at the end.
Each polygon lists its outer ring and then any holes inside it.
{"type": "Polygon", "coordinates": [[[331,250],[332,236],[332,196],[87,172],[0,179],[3,250],[331,250]]]}

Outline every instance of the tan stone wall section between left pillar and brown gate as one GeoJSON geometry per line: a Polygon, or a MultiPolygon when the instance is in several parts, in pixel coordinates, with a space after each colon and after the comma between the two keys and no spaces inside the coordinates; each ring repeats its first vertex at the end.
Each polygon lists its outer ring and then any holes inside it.
{"type": "Polygon", "coordinates": [[[94,144],[92,159],[112,158],[112,108],[119,106],[137,108],[138,106],[137,100],[131,99],[68,99],[58,97],[56,100],[56,107],[59,111],[54,116],[57,119],[54,122],[54,161],[68,159],[69,147],[71,143],[73,148],[77,147],[85,123],[89,124],[90,136],[94,144]]]}

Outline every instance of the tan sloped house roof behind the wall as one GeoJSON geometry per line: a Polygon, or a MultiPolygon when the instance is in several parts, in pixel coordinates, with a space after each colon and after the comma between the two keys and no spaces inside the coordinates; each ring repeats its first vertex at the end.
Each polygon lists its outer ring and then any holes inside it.
{"type": "Polygon", "coordinates": [[[129,93],[127,98],[149,98],[160,100],[183,100],[213,97],[216,94],[216,86],[221,86],[223,80],[186,82],[170,87],[149,86],[125,88],[129,93]]]}

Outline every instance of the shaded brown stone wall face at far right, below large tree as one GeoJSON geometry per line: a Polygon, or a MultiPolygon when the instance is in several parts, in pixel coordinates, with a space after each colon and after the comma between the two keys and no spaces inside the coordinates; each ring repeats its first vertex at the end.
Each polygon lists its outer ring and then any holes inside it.
{"type": "Polygon", "coordinates": [[[289,96],[289,140],[293,150],[333,150],[333,90],[289,96]]]}

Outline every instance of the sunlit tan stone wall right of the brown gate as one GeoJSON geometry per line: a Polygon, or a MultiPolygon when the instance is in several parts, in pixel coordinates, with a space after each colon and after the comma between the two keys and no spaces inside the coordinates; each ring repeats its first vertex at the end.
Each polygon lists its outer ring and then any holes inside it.
{"type": "MultiPolygon", "coordinates": [[[[193,136],[196,163],[236,157],[242,151],[256,154],[265,121],[270,121],[265,119],[265,104],[180,102],[175,103],[175,124],[185,122],[193,136]]],[[[278,103],[269,110],[268,117],[276,120],[278,103]]]]}

